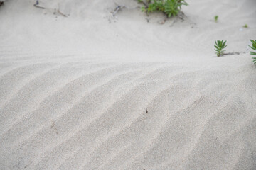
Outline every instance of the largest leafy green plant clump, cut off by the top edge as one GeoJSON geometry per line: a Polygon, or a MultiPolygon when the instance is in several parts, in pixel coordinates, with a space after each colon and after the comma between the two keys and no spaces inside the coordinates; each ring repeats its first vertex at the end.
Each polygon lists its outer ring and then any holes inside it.
{"type": "Polygon", "coordinates": [[[144,4],[141,8],[142,11],[151,12],[163,12],[166,16],[176,16],[181,11],[182,5],[188,5],[185,0],[138,0],[139,3],[144,4]]]}

